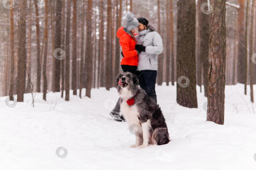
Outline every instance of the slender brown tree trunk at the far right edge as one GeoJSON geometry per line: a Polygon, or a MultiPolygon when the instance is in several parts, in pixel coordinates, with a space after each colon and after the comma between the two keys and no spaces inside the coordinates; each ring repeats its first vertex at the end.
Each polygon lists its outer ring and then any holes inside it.
{"type": "MultiPolygon", "coordinates": [[[[254,37],[254,29],[253,29],[253,25],[254,25],[254,5],[255,5],[255,0],[252,0],[253,3],[252,3],[252,9],[251,9],[251,30],[250,30],[250,57],[253,55],[253,47],[254,47],[254,44],[255,44],[255,39],[253,38],[254,37]]],[[[249,73],[250,73],[250,91],[251,91],[251,102],[254,102],[253,100],[253,62],[250,60],[249,61],[249,73]]]]}

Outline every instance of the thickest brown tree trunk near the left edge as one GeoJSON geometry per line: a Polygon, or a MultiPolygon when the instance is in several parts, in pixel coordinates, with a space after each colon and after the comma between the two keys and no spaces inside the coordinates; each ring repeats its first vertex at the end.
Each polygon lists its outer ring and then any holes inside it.
{"type": "Polygon", "coordinates": [[[18,82],[17,82],[17,101],[23,102],[25,80],[26,80],[26,8],[27,1],[20,0],[20,21],[19,21],[19,64],[18,64],[18,82]]]}

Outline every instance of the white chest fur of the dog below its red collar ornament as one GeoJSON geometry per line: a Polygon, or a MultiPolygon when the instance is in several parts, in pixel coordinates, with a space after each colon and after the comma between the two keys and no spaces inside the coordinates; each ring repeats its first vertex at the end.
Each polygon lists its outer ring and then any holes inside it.
{"type": "Polygon", "coordinates": [[[120,104],[120,111],[121,114],[125,117],[125,120],[127,121],[128,125],[131,126],[132,124],[140,125],[138,116],[138,109],[136,105],[128,105],[127,100],[123,100],[120,104]]]}

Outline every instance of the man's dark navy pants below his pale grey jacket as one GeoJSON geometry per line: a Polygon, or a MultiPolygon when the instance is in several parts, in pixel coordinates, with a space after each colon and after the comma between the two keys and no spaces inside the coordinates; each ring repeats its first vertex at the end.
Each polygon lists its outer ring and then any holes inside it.
{"type": "Polygon", "coordinates": [[[155,82],[156,82],[157,71],[142,70],[142,71],[137,71],[136,73],[139,79],[140,87],[143,88],[146,91],[146,93],[155,100],[155,103],[157,103],[156,94],[155,94],[155,82]]]}

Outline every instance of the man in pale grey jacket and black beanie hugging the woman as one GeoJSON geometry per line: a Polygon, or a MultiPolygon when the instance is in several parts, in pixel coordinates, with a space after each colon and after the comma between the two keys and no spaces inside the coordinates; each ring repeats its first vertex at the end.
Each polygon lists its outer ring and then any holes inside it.
{"type": "Polygon", "coordinates": [[[163,41],[155,28],[149,25],[148,19],[141,17],[139,21],[139,34],[136,36],[136,50],[139,53],[137,76],[139,84],[155,102],[155,82],[157,76],[157,55],[163,52],[163,41]]]}

